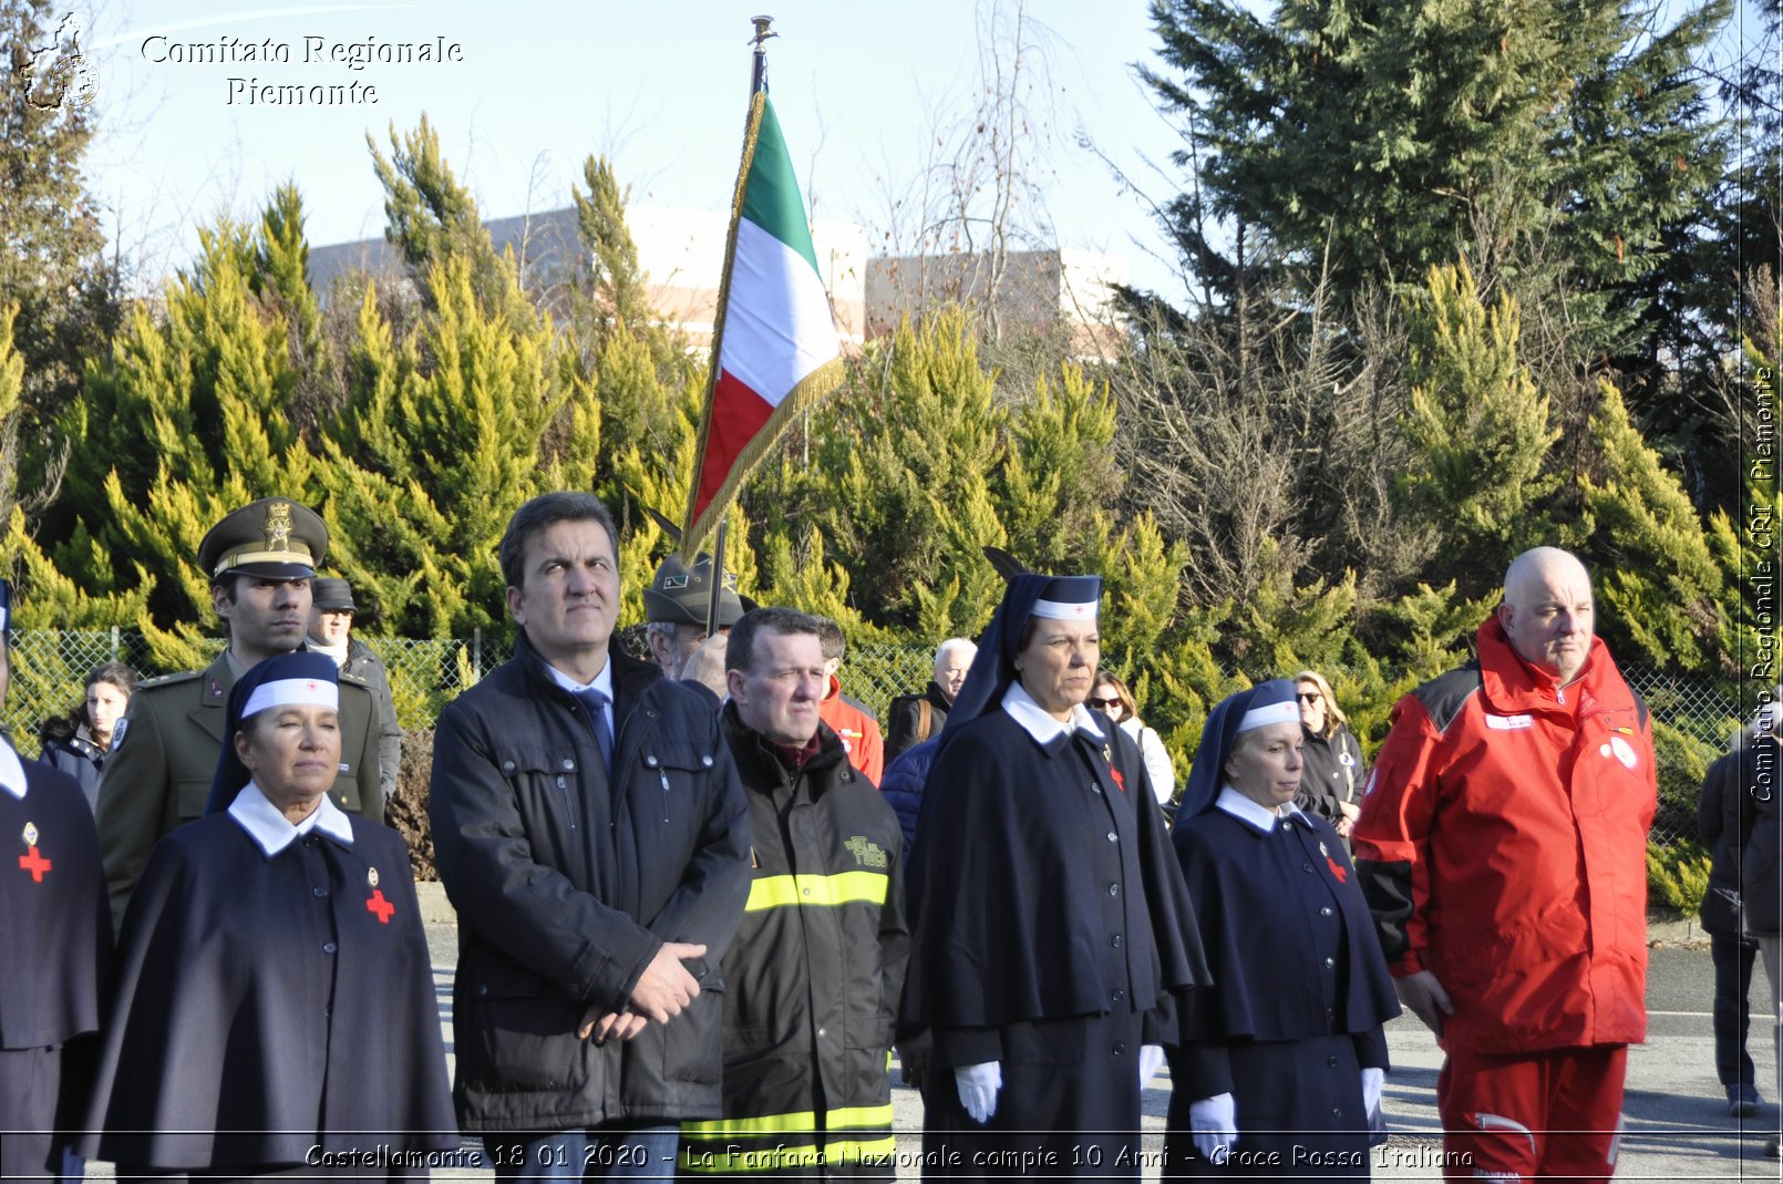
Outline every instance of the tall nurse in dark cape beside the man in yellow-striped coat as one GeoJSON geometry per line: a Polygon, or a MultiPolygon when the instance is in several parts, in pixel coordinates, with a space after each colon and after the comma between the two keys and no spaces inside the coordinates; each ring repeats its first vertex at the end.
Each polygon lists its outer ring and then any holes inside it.
{"type": "Polygon", "coordinates": [[[900,1031],[931,1179],[1139,1179],[1139,1093],[1207,983],[1145,761],[1084,706],[1100,592],[1013,576],[924,792],[900,1031]]]}

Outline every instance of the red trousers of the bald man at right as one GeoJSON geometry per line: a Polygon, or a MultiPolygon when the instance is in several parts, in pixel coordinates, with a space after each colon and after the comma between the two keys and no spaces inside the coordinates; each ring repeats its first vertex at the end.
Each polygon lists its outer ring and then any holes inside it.
{"type": "Polygon", "coordinates": [[[1451,1052],[1437,1075],[1444,1179],[1574,1184],[1615,1175],[1626,1045],[1451,1052]]]}

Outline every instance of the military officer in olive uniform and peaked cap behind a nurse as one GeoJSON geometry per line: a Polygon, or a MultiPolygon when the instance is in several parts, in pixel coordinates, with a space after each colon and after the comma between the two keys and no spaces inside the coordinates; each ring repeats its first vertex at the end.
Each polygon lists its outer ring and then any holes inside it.
{"type": "MultiPolygon", "coordinates": [[[[303,647],[310,580],[326,551],[321,517],[287,497],[262,497],[228,514],[198,544],[228,645],[203,670],[137,687],[118,720],[94,808],[116,922],[155,840],[205,810],[230,687],[253,665],[303,647]]],[[[342,670],[341,772],[328,795],[349,813],[383,822],[374,720],[373,692],[342,670]]]]}

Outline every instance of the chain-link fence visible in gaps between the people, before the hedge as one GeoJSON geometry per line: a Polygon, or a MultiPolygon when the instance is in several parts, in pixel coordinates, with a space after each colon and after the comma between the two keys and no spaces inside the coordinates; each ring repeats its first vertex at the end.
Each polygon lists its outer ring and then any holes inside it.
{"type": "MultiPolygon", "coordinates": [[[[629,633],[629,631],[628,631],[629,633]]],[[[396,713],[407,731],[433,728],[433,719],[465,687],[510,654],[506,635],[469,638],[366,637],[390,672],[396,713]]],[[[638,638],[631,637],[633,649],[638,638]]],[[[223,642],[216,642],[221,649],[223,642]]],[[[922,692],[934,653],[915,645],[850,645],[842,688],[883,713],[895,695],[922,692]]],[[[152,665],[143,637],[123,629],[29,629],[12,633],[12,687],[0,719],[20,749],[37,751],[46,719],[78,708],[87,670],[103,662],[125,662],[144,678],[162,674],[152,665]]],[[[1651,667],[1624,667],[1628,683],[1653,711],[1658,756],[1660,810],[1653,838],[1662,845],[1696,833],[1696,801],[1708,765],[1728,751],[1740,722],[1740,704],[1708,678],[1651,667]]],[[[1389,685],[1393,678],[1385,679],[1389,685]]],[[[1148,704],[1141,704],[1146,710],[1148,704]]],[[[1350,704],[1344,704],[1346,708],[1350,704]]],[[[1369,754],[1380,736],[1362,736],[1369,754]]]]}

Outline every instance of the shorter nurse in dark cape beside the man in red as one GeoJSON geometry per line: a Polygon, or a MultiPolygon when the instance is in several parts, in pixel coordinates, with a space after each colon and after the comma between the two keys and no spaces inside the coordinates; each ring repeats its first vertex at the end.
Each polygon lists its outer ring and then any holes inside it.
{"type": "Polygon", "coordinates": [[[1382,1024],[1400,1013],[1344,842],[1294,808],[1294,685],[1207,719],[1171,842],[1214,986],[1170,1057],[1166,1179],[1369,1175],[1385,1141],[1382,1024]]]}

